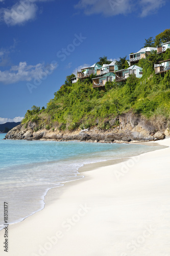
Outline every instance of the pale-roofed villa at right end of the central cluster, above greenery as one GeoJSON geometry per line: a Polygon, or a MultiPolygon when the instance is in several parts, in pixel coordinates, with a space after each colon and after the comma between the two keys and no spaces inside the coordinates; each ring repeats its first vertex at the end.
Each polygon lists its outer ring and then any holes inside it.
{"type": "Polygon", "coordinates": [[[135,74],[136,77],[141,78],[143,75],[143,69],[136,65],[133,65],[128,69],[115,71],[115,81],[125,81],[132,74],[135,74]]]}

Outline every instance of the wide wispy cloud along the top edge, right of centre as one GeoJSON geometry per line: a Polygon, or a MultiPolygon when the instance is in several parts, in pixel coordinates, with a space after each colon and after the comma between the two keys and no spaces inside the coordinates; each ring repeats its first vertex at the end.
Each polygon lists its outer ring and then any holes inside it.
{"type": "Polygon", "coordinates": [[[135,11],[141,17],[145,17],[156,12],[165,2],[166,0],[79,0],[75,8],[83,9],[86,15],[114,16],[118,14],[126,15],[135,11]]]}

